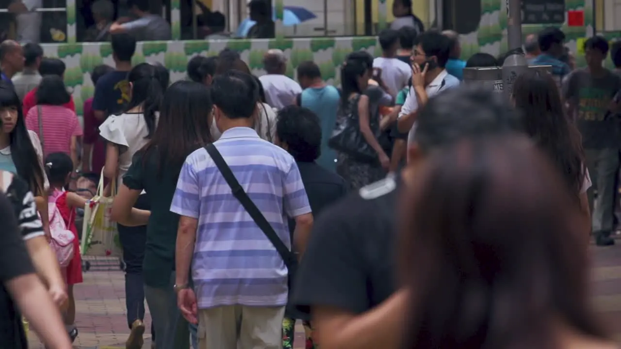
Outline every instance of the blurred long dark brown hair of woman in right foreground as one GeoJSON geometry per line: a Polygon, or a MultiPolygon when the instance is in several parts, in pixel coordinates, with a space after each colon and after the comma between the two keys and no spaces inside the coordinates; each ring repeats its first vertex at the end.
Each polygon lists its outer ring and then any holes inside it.
{"type": "Polygon", "coordinates": [[[606,338],[580,209],[525,136],[440,148],[412,183],[399,205],[399,270],[413,294],[401,348],[555,348],[559,320],[606,338]]]}

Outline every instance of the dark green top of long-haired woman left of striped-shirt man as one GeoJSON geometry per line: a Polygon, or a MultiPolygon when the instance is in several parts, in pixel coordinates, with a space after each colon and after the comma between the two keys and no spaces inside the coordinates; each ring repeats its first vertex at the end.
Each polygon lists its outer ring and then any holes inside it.
{"type": "Polygon", "coordinates": [[[179,215],[170,212],[170,203],[177,187],[177,178],[181,168],[166,166],[163,172],[156,160],[156,153],[143,156],[137,152],[132,158],[123,184],[129,189],[144,190],[149,194],[151,216],[147,225],[147,245],[142,272],[147,286],[163,288],[170,284],[170,274],[175,270],[175,244],[179,215]]]}

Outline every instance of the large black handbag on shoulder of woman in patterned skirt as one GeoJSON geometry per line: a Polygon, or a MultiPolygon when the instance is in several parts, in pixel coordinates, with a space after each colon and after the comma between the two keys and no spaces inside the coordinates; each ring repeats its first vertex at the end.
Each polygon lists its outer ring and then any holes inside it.
{"type": "MultiPolygon", "coordinates": [[[[353,104],[357,110],[360,94],[350,99],[350,106],[353,104]]],[[[337,122],[332,132],[332,137],[328,140],[328,147],[337,152],[345,153],[356,161],[363,163],[378,163],[378,153],[366,142],[365,136],[360,131],[358,113],[353,108],[347,112],[340,122],[337,122]]]]}

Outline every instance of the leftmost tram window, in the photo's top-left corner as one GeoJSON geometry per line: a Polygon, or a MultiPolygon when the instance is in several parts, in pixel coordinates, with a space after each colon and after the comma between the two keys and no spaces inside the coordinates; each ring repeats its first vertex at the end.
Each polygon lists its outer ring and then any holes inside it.
{"type": "Polygon", "coordinates": [[[66,42],[66,0],[0,1],[0,39],[20,42],[66,42]],[[33,7],[34,6],[34,7],[33,7]],[[26,11],[25,13],[22,13],[26,11]]]}

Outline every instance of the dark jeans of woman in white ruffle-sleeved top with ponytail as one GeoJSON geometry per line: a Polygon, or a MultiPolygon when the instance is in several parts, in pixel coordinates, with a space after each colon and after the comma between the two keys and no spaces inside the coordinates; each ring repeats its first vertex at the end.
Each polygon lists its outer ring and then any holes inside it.
{"type": "MultiPolygon", "coordinates": [[[[149,209],[146,195],[138,197],[134,205],[138,209],[149,209]]],[[[118,224],[119,240],[123,247],[125,262],[125,306],[127,307],[127,325],[132,328],[135,320],[145,319],[145,289],[142,276],[142,259],[145,256],[147,226],[125,227],[118,224]]]]}

